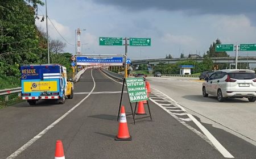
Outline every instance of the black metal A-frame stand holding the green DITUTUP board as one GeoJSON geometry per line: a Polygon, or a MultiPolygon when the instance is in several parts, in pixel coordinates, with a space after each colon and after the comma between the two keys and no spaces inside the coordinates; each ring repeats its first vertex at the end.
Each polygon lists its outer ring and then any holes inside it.
{"type": "MultiPolygon", "coordinates": [[[[119,119],[119,115],[120,115],[120,110],[121,110],[121,105],[122,105],[122,99],[123,99],[123,89],[126,85],[127,87],[127,82],[126,82],[126,79],[127,78],[123,78],[123,86],[122,86],[122,93],[121,93],[121,99],[120,99],[120,103],[119,103],[119,110],[118,110],[118,115],[117,115],[117,121],[119,119]]],[[[139,79],[139,78],[136,78],[136,79],[139,79]]],[[[143,84],[143,87],[144,87],[144,84],[143,84]]],[[[145,91],[145,90],[144,90],[145,91]]],[[[127,89],[127,92],[129,94],[129,90],[127,89]]],[[[143,92],[143,91],[142,91],[143,92]]],[[[142,100],[139,100],[139,101],[144,101],[143,99],[142,100]]],[[[132,103],[131,103],[131,99],[129,98],[129,102],[130,102],[130,107],[131,107],[131,114],[127,114],[127,115],[133,115],[133,122],[135,124],[135,111],[136,111],[136,108],[137,108],[137,104],[138,104],[138,101],[135,103],[135,110],[133,111],[133,106],[132,106],[132,103]]],[[[150,112],[150,106],[148,104],[148,101],[147,101],[147,107],[148,107],[148,112],[149,112],[149,116],[143,116],[141,118],[137,118],[137,119],[142,119],[142,118],[150,118],[151,121],[152,121],[152,116],[151,116],[151,112],[150,112]]]]}

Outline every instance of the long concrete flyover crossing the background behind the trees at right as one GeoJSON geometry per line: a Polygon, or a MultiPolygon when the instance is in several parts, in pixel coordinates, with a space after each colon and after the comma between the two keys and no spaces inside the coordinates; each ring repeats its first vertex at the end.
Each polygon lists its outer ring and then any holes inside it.
{"type": "MultiPolygon", "coordinates": [[[[217,64],[221,63],[236,63],[236,57],[211,57],[212,61],[217,64]]],[[[197,62],[202,62],[204,58],[158,58],[158,59],[147,59],[147,60],[132,60],[131,65],[141,65],[141,64],[176,64],[179,61],[189,61],[195,60],[197,62]]],[[[256,63],[256,57],[238,57],[238,63],[256,63]]]]}

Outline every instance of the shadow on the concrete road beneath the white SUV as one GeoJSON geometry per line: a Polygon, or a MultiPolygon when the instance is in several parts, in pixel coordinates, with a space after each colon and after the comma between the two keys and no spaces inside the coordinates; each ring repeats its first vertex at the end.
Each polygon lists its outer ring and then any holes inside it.
{"type": "MultiPolygon", "coordinates": [[[[188,99],[190,101],[196,101],[196,102],[213,102],[217,103],[217,97],[209,96],[209,97],[203,97],[203,95],[184,95],[182,98],[188,99]]],[[[245,98],[226,98],[224,100],[226,103],[248,103],[249,101],[245,101],[245,98]]]]}

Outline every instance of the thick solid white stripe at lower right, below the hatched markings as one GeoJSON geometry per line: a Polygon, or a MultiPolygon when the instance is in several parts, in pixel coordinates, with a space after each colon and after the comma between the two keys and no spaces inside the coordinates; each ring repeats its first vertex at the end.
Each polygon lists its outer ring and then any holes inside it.
{"type": "Polygon", "coordinates": [[[219,142],[215,137],[199,122],[196,120],[194,116],[191,114],[187,114],[188,117],[201,129],[201,131],[204,133],[205,136],[208,137],[208,139],[212,142],[214,147],[218,149],[218,151],[225,157],[225,158],[234,158],[232,154],[228,152],[219,142]]]}

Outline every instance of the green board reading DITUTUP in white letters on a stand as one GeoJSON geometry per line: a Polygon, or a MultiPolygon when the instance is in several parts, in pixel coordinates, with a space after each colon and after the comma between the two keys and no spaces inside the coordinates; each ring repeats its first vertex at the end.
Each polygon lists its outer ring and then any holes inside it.
{"type": "Polygon", "coordinates": [[[143,77],[126,78],[125,80],[131,103],[148,100],[143,77]]]}

